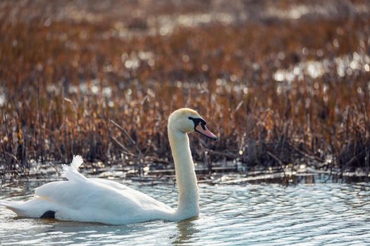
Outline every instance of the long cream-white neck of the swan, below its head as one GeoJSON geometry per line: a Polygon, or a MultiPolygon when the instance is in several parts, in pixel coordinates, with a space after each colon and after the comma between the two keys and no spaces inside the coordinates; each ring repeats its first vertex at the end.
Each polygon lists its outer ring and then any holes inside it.
{"type": "Polygon", "coordinates": [[[199,215],[199,193],[195,176],[192,153],[187,134],[173,130],[168,125],[168,139],[175,162],[176,182],[178,184],[178,219],[199,215]]]}

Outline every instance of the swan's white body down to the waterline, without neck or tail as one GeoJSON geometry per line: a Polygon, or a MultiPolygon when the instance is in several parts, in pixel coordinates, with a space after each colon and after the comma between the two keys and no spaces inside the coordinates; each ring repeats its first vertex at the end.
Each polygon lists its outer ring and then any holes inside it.
{"type": "Polygon", "coordinates": [[[140,191],[99,179],[51,182],[37,188],[35,194],[55,205],[48,210],[55,211],[56,219],[62,220],[127,224],[164,219],[163,214],[175,212],[140,191]]]}

